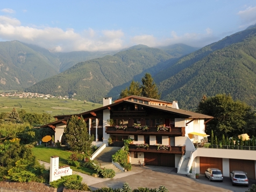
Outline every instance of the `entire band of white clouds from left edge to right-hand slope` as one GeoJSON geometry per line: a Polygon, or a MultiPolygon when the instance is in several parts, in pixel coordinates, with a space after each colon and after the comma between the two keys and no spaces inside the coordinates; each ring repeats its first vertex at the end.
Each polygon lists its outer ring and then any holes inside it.
{"type": "Polygon", "coordinates": [[[185,33],[177,35],[170,33],[170,37],[158,39],[153,35],[137,35],[125,42],[122,30],[93,29],[77,33],[74,29],[62,30],[58,27],[48,26],[23,26],[16,18],[0,16],[0,39],[19,40],[35,44],[56,52],[70,51],[115,51],[128,46],[144,44],[150,47],[168,46],[183,43],[194,47],[203,47],[219,40],[214,37],[212,30],[207,28],[205,33],[185,33]]]}

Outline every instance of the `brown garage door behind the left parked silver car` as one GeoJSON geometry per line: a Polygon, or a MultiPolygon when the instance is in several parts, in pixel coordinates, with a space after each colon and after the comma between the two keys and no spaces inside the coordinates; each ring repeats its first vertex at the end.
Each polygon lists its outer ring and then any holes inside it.
{"type": "Polygon", "coordinates": [[[204,174],[209,167],[218,168],[222,171],[222,158],[200,157],[200,173],[204,174]]]}

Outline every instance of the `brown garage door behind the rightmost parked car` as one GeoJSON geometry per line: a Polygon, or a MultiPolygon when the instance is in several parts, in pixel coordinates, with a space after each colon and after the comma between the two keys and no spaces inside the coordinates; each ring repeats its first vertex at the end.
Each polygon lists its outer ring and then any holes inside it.
{"type": "Polygon", "coordinates": [[[255,179],[255,163],[252,160],[229,159],[229,170],[243,170],[249,179],[255,179]]]}

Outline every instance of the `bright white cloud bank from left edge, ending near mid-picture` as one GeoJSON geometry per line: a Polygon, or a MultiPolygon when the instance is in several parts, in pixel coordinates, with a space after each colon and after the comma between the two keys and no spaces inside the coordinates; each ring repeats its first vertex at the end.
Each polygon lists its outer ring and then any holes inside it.
{"type": "Polygon", "coordinates": [[[76,33],[74,29],[22,26],[18,19],[0,16],[0,38],[36,44],[54,51],[112,51],[123,48],[122,30],[76,33]]]}

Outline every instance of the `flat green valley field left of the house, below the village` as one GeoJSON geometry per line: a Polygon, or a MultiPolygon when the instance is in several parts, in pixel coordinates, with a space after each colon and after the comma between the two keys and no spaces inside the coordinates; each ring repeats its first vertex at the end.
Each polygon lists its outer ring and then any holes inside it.
{"type": "Polygon", "coordinates": [[[0,112],[10,112],[16,108],[17,111],[24,109],[27,113],[49,113],[56,116],[81,113],[101,106],[98,103],[71,99],[0,97],[0,112]]]}

